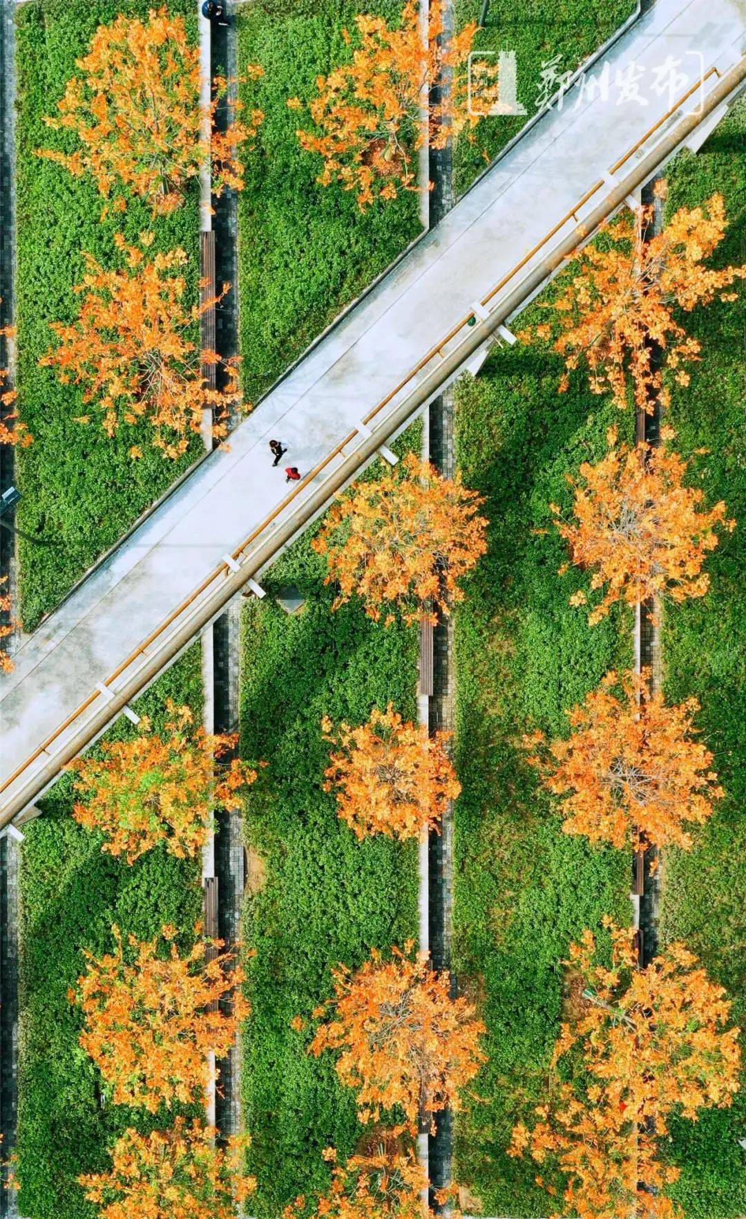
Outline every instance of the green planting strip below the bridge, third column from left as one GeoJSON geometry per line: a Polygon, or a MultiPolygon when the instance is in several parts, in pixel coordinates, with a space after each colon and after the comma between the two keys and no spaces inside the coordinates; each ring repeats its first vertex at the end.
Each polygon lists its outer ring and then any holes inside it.
{"type": "Polygon", "coordinates": [[[489,1061],[458,1121],[454,1175],[492,1215],[546,1213],[535,1165],[505,1147],[546,1092],[568,945],[604,913],[629,918],[628,857],[565,835],[518,748],[525,731],[565,734],[565,709],[632,662],[629,613],[589,628],[568,605],[588,577],[557,575],[567,556],[549,503],[570,510],[566,474],[601,456],[610,424],[624,428],[579,378],[559,395],[561,367],[537,347],[500,349],[456,391],[459,464],[490,525],[456,616],[454,953],[489,1061]]]}

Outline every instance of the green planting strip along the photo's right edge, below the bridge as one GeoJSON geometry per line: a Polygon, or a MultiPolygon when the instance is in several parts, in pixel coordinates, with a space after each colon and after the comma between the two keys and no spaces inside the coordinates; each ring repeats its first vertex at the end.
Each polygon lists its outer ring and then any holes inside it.
{"type": "MultiPolygon", "coordinates": [[[[731,113],[695,157],[682,154],[668,171],[668,211],[703,202],[714,191],[724,200],[729,233],[717,265],[746,262],[746,106],[731,113]]],[[[725,500],[737,521],[707,560],[706,597],[672,607],[663,624],[666,695],[695,695],[697,723],[714,752],[727,791],[717,814],[694,833],[688,855],[667,852],[663,868],[661,934],[683,939],[734,1000],[735,1022],[746,1028],[746,343],[744,290],[734,304],[716,304],[686,318],[702,343],[702,361],[691,386],[673,390],[668,422],[675,445],[692,458],[691,477],[707,501],[725,500]],[[708,452],[696,455],[697,450],[708,452]]],[[[746,1130],[746,1078],[731,1109],[703,1113],[696,1125],[673,1125],[674,1163],[683,1176],[674,1196],[688,1219],[735,1219],[746,1214],[746,1152],[736,1142],[746,1130]]]]}

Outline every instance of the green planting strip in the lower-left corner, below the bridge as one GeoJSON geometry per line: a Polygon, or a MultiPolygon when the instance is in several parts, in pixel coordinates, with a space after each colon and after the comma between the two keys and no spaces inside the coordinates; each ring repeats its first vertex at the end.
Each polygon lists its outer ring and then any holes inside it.
{"type": "MultiPolygon", "coordinates": [[[[201,717],[200,647],[191,649],[138,700],[155,724],[168,697],[201,717]]],[[[120,719],[123,736],[134,729],[120,719]]],[[[95,1219],[77,1184],[108,1167],[110,1147],[127,1125],[152,1129],[144,1111],[101,1103],[97,1070],[78,1045],[82,1028],[67,1000],[84,968],[83,950],[111,952],[111,926],[151,939],[164,923],[184,930],[202,909],[200,859],[162,847],[131,867],[101,851],[101,835],[71,817],[72,775],[43,801],[44,816],[24,826],[21,904],[21,1017],[17,1154],[19,1213],[33,1219],[95,1219]]]]}

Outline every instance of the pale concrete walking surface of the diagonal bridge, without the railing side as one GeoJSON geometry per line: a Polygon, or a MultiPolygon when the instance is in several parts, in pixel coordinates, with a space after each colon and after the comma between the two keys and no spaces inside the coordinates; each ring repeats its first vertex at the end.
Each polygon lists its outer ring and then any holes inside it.
{"type": "MultiPolygon", "coordinates": [[[[660,0],[636,22],[607,54],[607,71],[596,65],[596,88],[579,80],[562,108],[540,119],[277,384],[234,433],[230,450],[209,456],[26,641],[2,680],[0,774],[24,762],[280,503],[287,491],[282,466],[305,473],[330,453],[645,137],[701,68],[723,72],[741,59],[745,30],[746,0],[660,0]],[[675,80],[666,72],[672,61],[675,80]],[[624,84],[635,85],[636,100],[622,100],[624,84]],[[268,447],[273,436],[288,447],[277,469],[268,447]]],[[[593,204],[612,189],[610,180],[593,204]]],[[[394,395],[378,418],[400,401],[394,395]]]]}

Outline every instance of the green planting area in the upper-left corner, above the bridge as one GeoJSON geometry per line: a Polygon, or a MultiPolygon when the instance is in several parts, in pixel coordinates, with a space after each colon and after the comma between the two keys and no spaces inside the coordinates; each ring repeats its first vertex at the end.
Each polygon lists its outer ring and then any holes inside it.
{"type": "MultiPolygon", "coordinates": [[[[52,340],[47,323],[77,316],[73,286],[82,278],[83,251],[111,266],[117,230],[134,240],[151,227],[148,210],[134,200],[124,218],[100,224],[103,200],[91,179],[73,178],[34,156],[38,147],[75,146],[74,137],[50,130],[41,119],[56,112],[96,27],[119,12],[146,16],[152,7],[152,0],[32,0],[17,10],[18,389],[19,414],[34,436],[17,456],[23,494],[17,523],[32,538],[56,542],[18,541],[18,610],[27,630],[201,451],[195,438],[184,460],[173,463],[150,446],[147,425],[123,425],[110,439],[95,417],[88,427],[75,423],[85,413],[82,390],[61,385],[54,369],[38,367],[52,340]],[[128,456],[135,442],[142,447],[140,461],[128,456]]],[[[192,0],[170,0],[168,7],[187,15],[196,38],[192,0]]],[[[196,300],[197,190],[152,227],[155,250],[180,245],[190,255],[189,291],[196,300]]]]}

